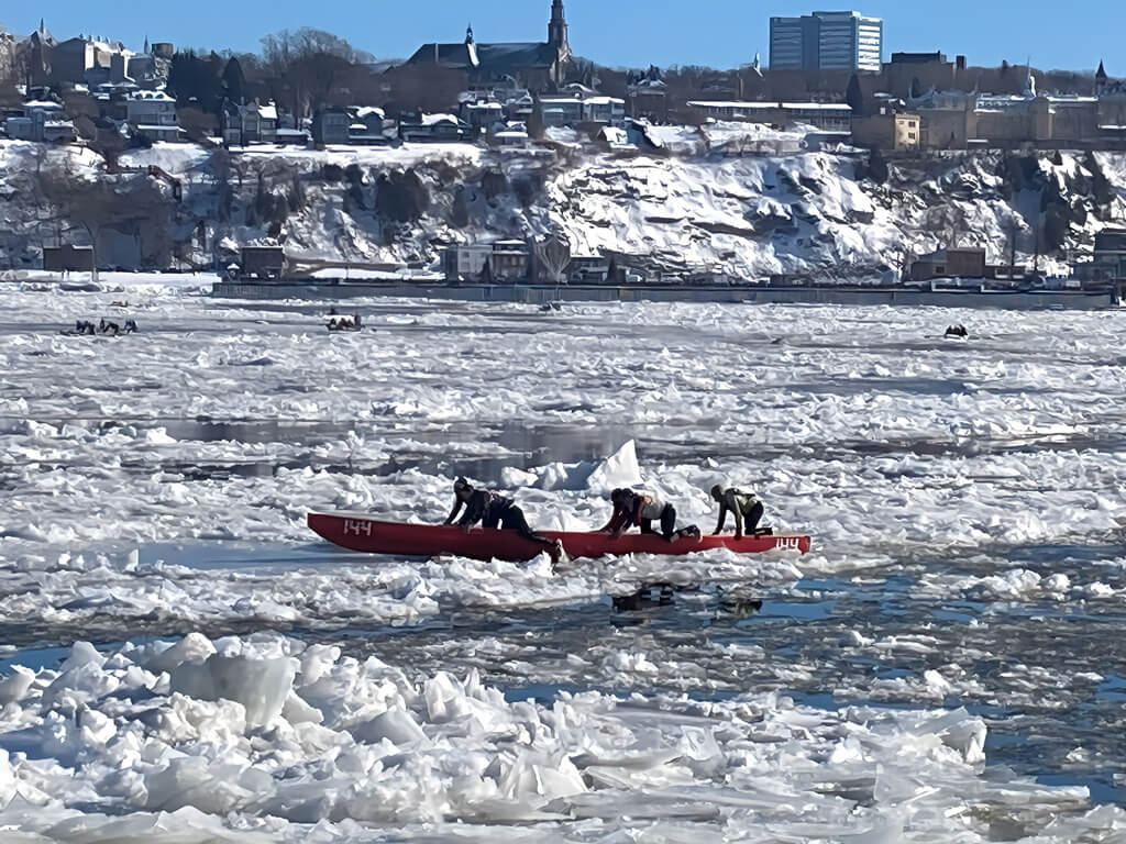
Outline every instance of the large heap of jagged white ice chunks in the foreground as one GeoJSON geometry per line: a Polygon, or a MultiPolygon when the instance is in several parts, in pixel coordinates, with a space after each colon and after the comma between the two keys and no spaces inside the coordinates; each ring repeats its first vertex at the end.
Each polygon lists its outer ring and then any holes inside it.
{"type": "MultiPolygon", "coordinates": [[[[646,671],[643,654],[616,661],[646,671]]],[[[278,636],[109,655],[79,643],[0,710],[0,829],[203,844],[551,821],[606,842],[635,827],[653,841],[974,842],[1003,819],[1054,827],[1044,841],[1126,824],[1084,810],[1084,789],[983,775],[985,734],[965,710],[824,711],[753,692],[509,700],[472,671],[415,682],[278,636]]]]}

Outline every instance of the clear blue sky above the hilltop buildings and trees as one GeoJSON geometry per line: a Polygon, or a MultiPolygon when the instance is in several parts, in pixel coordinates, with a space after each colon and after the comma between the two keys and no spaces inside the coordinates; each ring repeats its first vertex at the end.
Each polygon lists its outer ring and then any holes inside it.
{"type": "MultiPolygon", "coordinates": [[[[42,16],[56,37],[91,33],[140,48],[148,34],[177,46],[257,51],[266,33],[314,26],[379,59],[393,59],[410,55],[425,41],[461,41],[467,21],[479,41],[542,39],[551,2],[52,0],[6,6],[0,21],[20,35],[42,16]]],[[[849,7],[784,0],[566,0],[575,52],[625,66],[731,68],[750,62],[756,52],[765,64],[770,16],[814,8],[849,7]]],[[[951,60],[964,53],[971,64],[1022,63],[1030,55],[1036,66],[1072,70],[1091,70],[1106,59],[1111,75],[1126,75],[1126,3],[1115,0],[878,0],[852,8],[884,18],[885,59],[895,50],[941,50],[951,60]]]]}

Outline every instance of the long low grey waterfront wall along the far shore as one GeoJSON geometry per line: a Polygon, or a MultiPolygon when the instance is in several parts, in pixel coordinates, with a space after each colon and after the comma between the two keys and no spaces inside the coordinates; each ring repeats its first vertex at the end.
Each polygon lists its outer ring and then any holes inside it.
{"type": "Polygon", "coordinates": [[[704,287],[607,285],[554,287],[548,285],[400,285],[325,281],[216,284],[212,295],[232,299],[349,299],[372,296],[456,302],[503,302],[542,305],[548,302],[727,302],[778,305],[930,305],[938,307],[995,307],[1017,311],[1115,307],[1109,290],[1036,290],[980,293],[915,290],[892,287],[704,287]]]}

